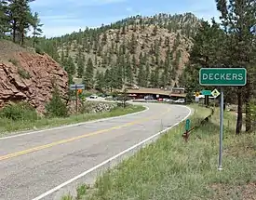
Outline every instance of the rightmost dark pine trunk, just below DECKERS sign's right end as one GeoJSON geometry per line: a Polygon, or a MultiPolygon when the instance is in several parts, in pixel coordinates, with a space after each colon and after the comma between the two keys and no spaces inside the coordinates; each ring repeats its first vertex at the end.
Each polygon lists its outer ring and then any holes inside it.
{"type": "MultiPolygon", "coordinates": [[[[249,75],[248,75],[249,76],[249,75]]],[[[251,97],[249,78],[247,80],[245,103],[246,103],[246,132],[251,131],[251,112],[249,107],[249,101],[251,97]]]]}

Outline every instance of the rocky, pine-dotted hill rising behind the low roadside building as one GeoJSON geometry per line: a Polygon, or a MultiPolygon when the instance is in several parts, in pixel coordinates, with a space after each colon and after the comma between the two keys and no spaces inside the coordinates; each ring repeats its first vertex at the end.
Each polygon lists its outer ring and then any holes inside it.
{"type": "Polygon", "coordinates": [[[61,65],[74,80],[88,88],[167,87],[177,83],[198,25],[191,13],[136,16],[47,42],[58,48],[61,65]]]}

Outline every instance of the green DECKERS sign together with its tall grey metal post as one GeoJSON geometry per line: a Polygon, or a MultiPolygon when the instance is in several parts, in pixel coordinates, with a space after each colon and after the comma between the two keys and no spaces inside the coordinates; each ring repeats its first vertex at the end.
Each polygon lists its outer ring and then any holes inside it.
{"type": "MultiPolygon", "coordinates": [[[[247,70],[245,68],[201,68],[199,71],[199,84],[201,86],[221,87],[220,106],[220,152],[218,170],[222,170],[222,138],[223,138],[223,87],[241,87],[247,84],[247,70]]],[[[217,98],[220,93],[217,89],[212,91],[212,96],[217,98]]]]}

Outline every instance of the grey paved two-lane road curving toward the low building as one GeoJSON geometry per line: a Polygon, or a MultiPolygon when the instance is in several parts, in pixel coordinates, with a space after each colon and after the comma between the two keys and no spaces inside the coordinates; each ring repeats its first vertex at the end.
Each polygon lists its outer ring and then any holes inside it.
{"type": "MultiPolygon", "coordinates": [[[[173,126],[190,112],[176,105],[146,105],[149,110],[138,114],[0,139],[0,199],[32,200],[173,126]]],[[[101,169],[43,199],[60,200],[61,194],[74,191],[76,184],[95,180],[101,169]]]]}

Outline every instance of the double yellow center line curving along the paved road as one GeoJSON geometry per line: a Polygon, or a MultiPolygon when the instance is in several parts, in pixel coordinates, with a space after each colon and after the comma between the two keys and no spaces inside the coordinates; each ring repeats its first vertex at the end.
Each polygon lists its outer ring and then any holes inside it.
{"type": "Polygon", "coordinates": [[[37,151],[40,151],[40,150],[44,150],[44,149],[47,149],[47,148],[50,148],[50,147],[53,147],[53,146],[57,146],[57,145],[59,145],[59,144],[64,144],[64,143],[67,143],[67,142],[71,142],[71,141],[74,141],[74,140],[80,140],[80,139],[83,139],[83,138],[88,138],[88,137],[90,137],[90,136],[99,135],[99,134],[101,134],[101,133],[105,133],[105,132],[108,132],[108,131],[111,131],[111,130],[119,129],[119,128],[121,128],[121,127],[129,127],[129,126],[132,126],[132,125],[136,125],[136,124],[139,124],[139,123],[141,123],[141,122],[144,122],[144,121],[148,121],[148,120],[150,120],[150,119],[153,119],[154,117],[159,117],[159,116],[161,116],[161,115],[164,115],[164,114],[168,113],[169,111],[170,111],[170,109],[168,109],[168,111],[165,112],[165,113],[161,113],[161,114],[154,115],[154,116],[151,116],[151,117],[142,118],[141,120],[135,120],[135,121],[129,122],[129,123],[124,124],[124,125],[121,125],[121,126],[116,126],[116,127],[110,127],[110,128],[106,128],[106,129],[101,129],[101,130],[98,130],[98,131],[95,131],[95,132],[91,132],[91,133],[88,133],[88,134],[76,136],[76,137],[74,137],[74,138],[65,139],[65,140],[59,140],[59,141],[54,141],[54,142],[51,142],[51,143],[48,143],[48,144],[45,144],[45,145],[36,146],[36,147],[34,147],[34,148],[26,149],[26,150],[23,150],[23,151],[20,151],[20,152],[9,153],[9,154],[6,154],[6,155],[1,155],[1,156],[0,156],[0,161],[7,160],[7,159],[9,159],[9,158],[17,157],[17,156],[19,156],[19,155],[23,155],[23,154],[27,154],[27,153],[34,153],[34,152],[37,152],[37,151]]]}

